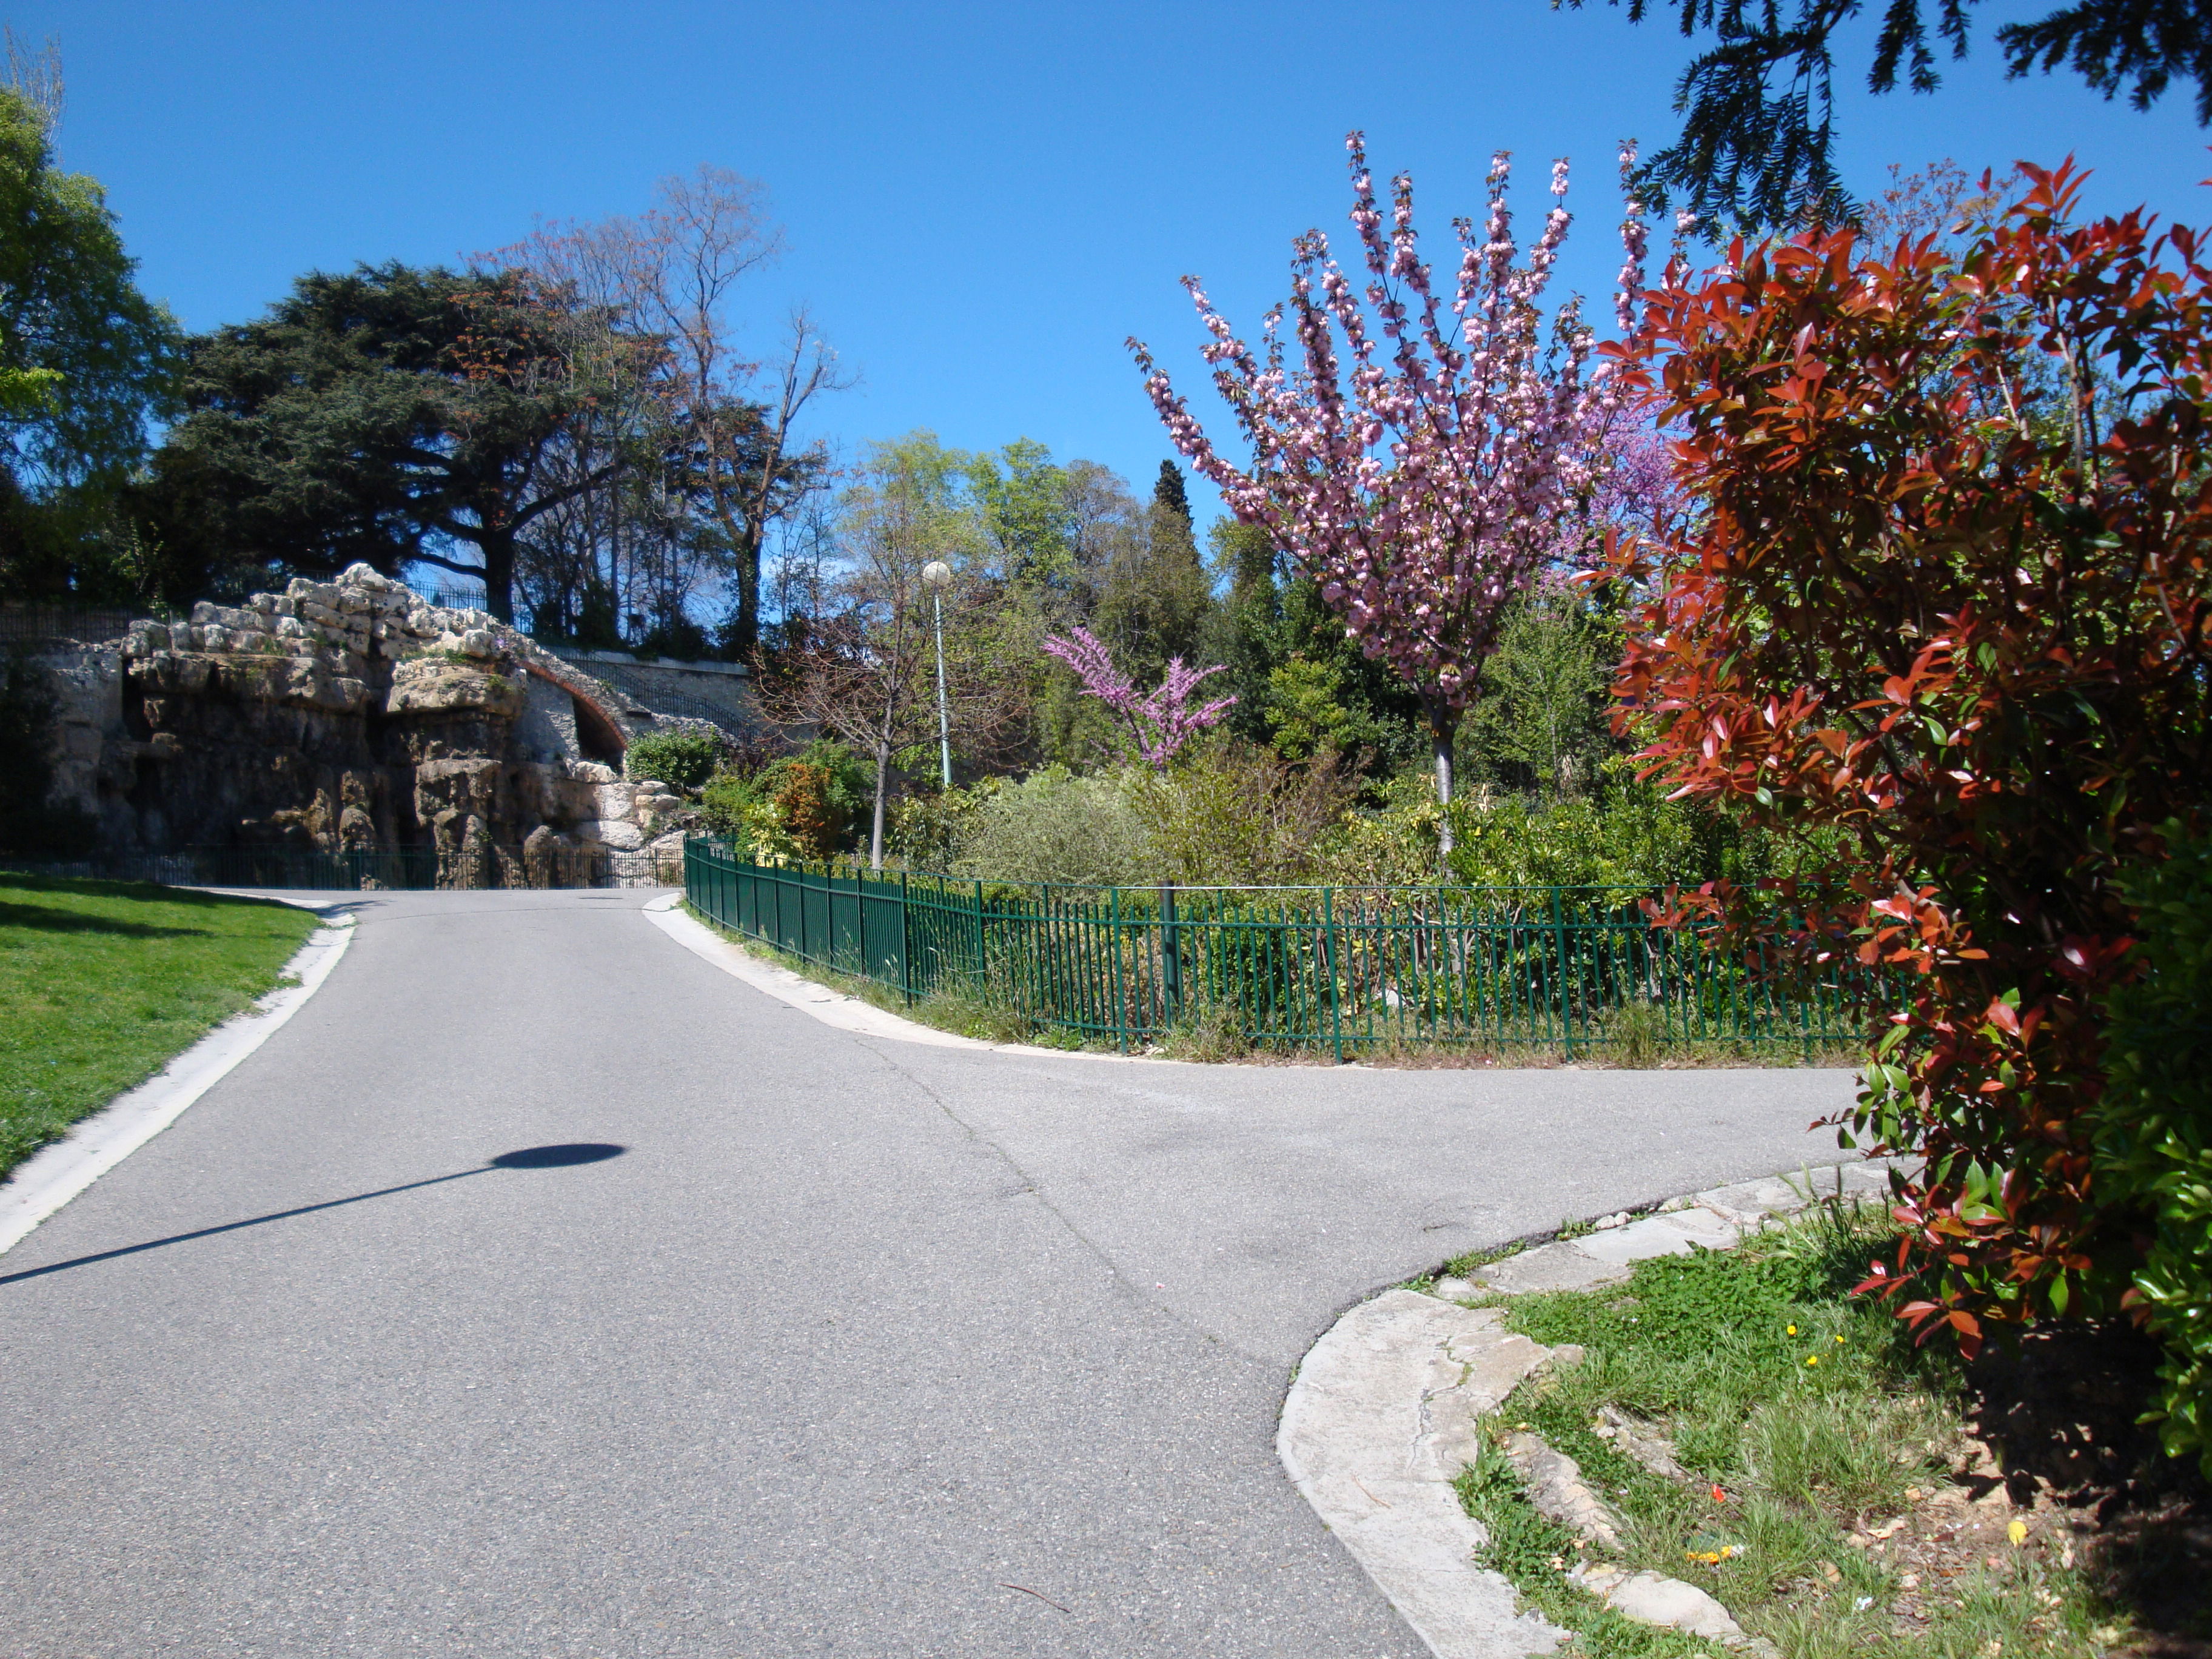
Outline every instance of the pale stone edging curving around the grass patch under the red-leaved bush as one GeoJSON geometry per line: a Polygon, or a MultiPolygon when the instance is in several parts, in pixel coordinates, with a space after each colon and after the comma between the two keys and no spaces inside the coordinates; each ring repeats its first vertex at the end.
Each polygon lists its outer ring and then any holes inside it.
{"type": "Polygon", "coordinates": [[[1540,1243],[1467,1279],[1440,1279],[1427,1294],[1387,1290],[1338,1318],[1298,1360],[1276,1455],[1429,1652],[1524,1659],[1566,1639],[1542,1615],[1515,1613],[1513,1586],[1475,1566],[1473,1553],[1489,1535],[1451,1482],[1482,1444],[1480,1418],[1522,1378],[1579,1354],[1506,1332],[1500,1310],[1464,1307],[1460,1298],[1588,1290],[1628,1279],[1630,1263],[1648,1256],[1683,1256],[1692,1243],[1732,1245],[1767,1219],[1825,1197],[1816,1183],[1825,1188],[1829,1170],[1843,1197],[1889,1186],[1882,1161],[1836,1164],[1807,1170],[1801,1183],[1736,1181],[1668,1199],[1644,1219],[1606,1217],[1586,1237],[1540,1243]]]}

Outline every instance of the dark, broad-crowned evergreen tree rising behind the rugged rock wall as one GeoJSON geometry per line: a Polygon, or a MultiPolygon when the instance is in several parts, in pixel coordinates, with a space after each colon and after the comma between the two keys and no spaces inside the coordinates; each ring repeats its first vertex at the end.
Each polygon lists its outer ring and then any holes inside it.
{"type": "Polygon", "coordinates": [[[157,522],[279,573],[431,564],[480,577],[487,608],[513,617],[520,538],[624,467],[619,451],[553,465],[588,405],[562,307],[513,270],[301,276],[268,316],[190,343],[157,522]]]}

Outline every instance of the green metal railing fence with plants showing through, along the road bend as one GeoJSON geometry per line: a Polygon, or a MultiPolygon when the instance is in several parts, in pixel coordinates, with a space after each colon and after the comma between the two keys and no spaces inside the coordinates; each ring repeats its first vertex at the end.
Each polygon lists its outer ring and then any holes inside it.
{"type": "Polygon", "coordinates": [[[1037,887],[759,865],[692,838],[701,916],[900,991],[1104,1042],[1517,1053],[1854,1044],[1843,982],[1783,1000],[1619,887],[1037,887]]]}

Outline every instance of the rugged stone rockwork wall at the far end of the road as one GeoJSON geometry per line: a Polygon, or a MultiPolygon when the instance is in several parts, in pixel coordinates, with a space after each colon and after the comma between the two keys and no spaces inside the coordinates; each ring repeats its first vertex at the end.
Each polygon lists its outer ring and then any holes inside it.
{"type": "Polygon", "coordinates": [[[624,781],[646,708],[482,611],[365,564],[38,659],[60,699],[55,796],[111,852],[670,843],[684,801],[624,781]]]}

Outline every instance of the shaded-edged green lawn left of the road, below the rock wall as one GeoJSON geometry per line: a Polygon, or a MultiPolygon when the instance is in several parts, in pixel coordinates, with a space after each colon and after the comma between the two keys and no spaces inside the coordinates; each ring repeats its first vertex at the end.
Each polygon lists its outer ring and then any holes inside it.
{"type": "Polygon", "coordinates": [[[0,872],[0,1177],[274,989],[314,927],[257,898],[0,872]]]}

